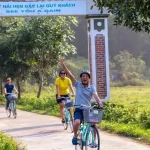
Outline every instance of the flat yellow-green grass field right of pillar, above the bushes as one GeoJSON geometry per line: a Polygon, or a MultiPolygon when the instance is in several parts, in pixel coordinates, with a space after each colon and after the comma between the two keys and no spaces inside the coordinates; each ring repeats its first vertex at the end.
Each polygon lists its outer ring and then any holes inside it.
{"type": "Polygon", "coordinates": [[[150,110],[150,87],[112,87],[111,102],[120,103],[124,106],[138,106],[139,110],[150,110]]]}

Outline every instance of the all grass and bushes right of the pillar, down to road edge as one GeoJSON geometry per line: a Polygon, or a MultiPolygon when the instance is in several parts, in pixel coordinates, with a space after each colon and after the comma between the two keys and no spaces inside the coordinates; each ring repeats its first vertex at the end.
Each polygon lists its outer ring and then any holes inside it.
{"type": "Polygon", "coordinates": [[[111,87],[107,113],[99,125],[109,132],[150,144],[150,87],[111,87]]]}

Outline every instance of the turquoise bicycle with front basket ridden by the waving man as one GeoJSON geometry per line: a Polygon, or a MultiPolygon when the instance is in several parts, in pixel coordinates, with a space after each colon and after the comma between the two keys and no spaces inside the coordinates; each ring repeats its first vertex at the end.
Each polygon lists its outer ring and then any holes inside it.
{"type": "Polygon", "coordinates": [[[78,130],[77,145],[75,150],[100,150],[100,135],[99,130],[95,124],[102,120],[103,109],[98,105],[85,106],[74,105],[75,108],[83,109],[84,121],[81,123],[78,130]]]}

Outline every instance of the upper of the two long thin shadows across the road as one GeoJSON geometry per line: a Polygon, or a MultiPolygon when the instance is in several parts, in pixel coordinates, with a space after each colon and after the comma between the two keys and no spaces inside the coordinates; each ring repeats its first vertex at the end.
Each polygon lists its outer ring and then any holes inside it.
{"type": "Polygon", "coordinates": [[[32,130],[32,129],[37,129],[37,128],[58,127],[58,126],[62,126],[62,124],[49,124],[49,125],[41,125],[41,126],[15,128],[15,129],[5,130],[5,132],[15,132],[15,131],[22,131],[22,130],[32,130]]]}

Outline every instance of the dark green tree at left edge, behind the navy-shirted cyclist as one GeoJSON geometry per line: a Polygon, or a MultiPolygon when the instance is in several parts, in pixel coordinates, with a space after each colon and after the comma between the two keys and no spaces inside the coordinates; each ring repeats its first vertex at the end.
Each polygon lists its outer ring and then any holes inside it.
{"type": "Polygon", "coordinates": [[[29,70],[29,66],[24,62],[24,58],[20,59],[18,57],[15,43],[15,37],[18,36],[18,31],[23,27],[24,22],[24,18],[0,18],[1,82],[6,76],[16,79],[19,98],[20,81],[24,79],[29,70]]]}

